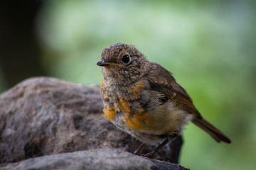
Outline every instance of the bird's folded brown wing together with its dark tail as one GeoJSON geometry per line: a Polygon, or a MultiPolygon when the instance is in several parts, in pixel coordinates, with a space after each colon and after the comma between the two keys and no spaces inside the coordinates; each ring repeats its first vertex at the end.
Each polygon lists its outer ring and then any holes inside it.
{"type": "Polygon", "coordinates": [[[171,75],[171,72],[164,69],[164,67],[161,67],[161,65],[159,64],[152,64],[154,65],[154,72],[150,72],[147,75],[147,78],[151,83],[151,88],[153,87],[154,90],[160,91],[168,98],[171,98],[171,100],[175,101],[178,108],[187,111],[189,114],[193,114],[192,122],[196,124],[199,128],[206,131],[217,142],[223,141],[226,143],[231,143],[229,137],[224,135],[223,132],[220,132],[220,130],[218,130],[213,125],[208,123],[208,121],[203,119],[199,111],[193,105],[191,97],[188,96],[186,90],[183,89],[183,87],[176,83],[176,80],[171,75]],[[159,82],[158,80],[161,80],[161,82],[159,82]]]}

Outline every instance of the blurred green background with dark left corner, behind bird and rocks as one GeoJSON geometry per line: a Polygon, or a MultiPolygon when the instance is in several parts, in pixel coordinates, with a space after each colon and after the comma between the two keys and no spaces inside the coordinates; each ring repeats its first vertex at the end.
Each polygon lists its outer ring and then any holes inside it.
{"type": "Polygon", "coordinates": [[[136,45],[173,72],[203,116],[233,140],[218,144],[190,124],[180,164],[255,169],[255,1],[59,0],[6,6],[0,13],[0,92],[35,76],[99,85],[96,62],[102,50],[117,42],[136,45]]]}

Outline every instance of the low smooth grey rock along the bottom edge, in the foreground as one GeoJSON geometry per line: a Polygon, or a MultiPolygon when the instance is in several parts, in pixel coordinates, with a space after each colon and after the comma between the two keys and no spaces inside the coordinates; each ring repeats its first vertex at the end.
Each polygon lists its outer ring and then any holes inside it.
{"type": "Polygon", "coordinates": [[[55,169],[174,169],[185,170],[183,166],[171,164],[169,162],[160,162],[156,160],[139,157],[129,152],[123,152],[119,149],[92,149],[87,151],[78,151],[65,154],[53,154],[45,157],[26,159],[24,161],[0,165],[1,170],[55,170],[55,169]]]}

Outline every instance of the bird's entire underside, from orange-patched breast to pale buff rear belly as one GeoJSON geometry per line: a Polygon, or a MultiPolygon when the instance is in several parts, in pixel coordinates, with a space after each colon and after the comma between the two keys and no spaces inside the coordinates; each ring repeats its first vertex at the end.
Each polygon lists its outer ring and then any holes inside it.
{"type": "Polygon", "coordinates": [[[132,86],[104,80],[101,85],[104,113],[108,120],[121,129],[139,130],[152,135],[163,135],[188,122],[188,114],[176,108],[171,99],[145,87],[145,81],[132,86]]]}

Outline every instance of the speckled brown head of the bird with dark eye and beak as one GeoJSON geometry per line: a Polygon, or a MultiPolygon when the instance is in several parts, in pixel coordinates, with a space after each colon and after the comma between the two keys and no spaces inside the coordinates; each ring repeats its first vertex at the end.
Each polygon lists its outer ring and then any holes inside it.
{"type": "Polygon", "coordinates": [[[119,81],[138,81],[149,71],[149,61],[133,45],[117,43],[102,51],[98,66],[103,67],[105,77],[114,77],[119,81]]]}

